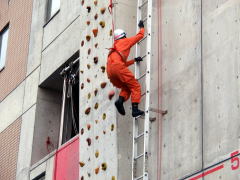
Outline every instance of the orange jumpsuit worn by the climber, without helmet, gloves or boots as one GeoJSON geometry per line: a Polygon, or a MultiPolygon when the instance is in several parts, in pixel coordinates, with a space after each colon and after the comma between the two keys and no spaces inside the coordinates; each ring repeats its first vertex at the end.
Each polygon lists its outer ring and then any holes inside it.
{"type": "Polygon", "coordinates": [[[119,39],[114,42],[113,48],[108,55],[107,74],[111,83],[121,88],[119,96],[128,100],[131,95],[132,103],[140,103],[141,86],[135,79],[128,66],[134,64],[135,60],[127,61],[130,49],[144,37],[144,28],[141,28],[136,36],[119,39]]]}

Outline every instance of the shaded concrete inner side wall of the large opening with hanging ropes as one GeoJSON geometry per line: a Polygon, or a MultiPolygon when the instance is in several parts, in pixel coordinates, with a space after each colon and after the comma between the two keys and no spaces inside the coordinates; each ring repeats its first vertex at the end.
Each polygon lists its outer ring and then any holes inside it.
{"type": "Polygon", "coordinates": [[[33,153],[34,164],[55,150],[58,146],[61,94],[55,91],[39,88],[36,121],[34,125],[33,153]],[[51,144],[46,142],[50,138],[51,144]]]}

